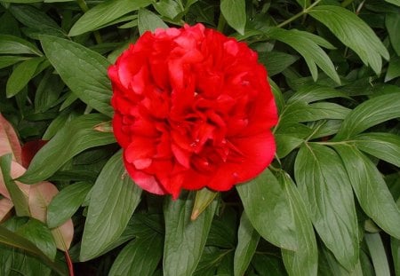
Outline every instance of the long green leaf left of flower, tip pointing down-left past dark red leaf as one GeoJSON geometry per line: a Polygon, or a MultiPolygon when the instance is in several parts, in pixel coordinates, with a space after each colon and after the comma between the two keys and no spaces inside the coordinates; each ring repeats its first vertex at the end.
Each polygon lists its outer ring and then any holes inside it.
{"type": "Polygon", "coordinates": [[[26,173],[18,180],[25,184],[35,184],[51,177],[62,165],[85,149],[114,143],[112,133],[94,130],[96,125],[106,121],[108,117],[102,114],[86,114],[68,122],[37,152],[26,173]]]}

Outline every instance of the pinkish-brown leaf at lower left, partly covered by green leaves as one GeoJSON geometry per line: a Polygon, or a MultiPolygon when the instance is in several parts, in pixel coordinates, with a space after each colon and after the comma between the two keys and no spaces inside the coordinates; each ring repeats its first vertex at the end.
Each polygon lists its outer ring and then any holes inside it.
{"type": "MultiPolygon", "coordinates": [[[[47,181],[31,185],[28,201],[31,216],[46,223],[47,207],[57,193],[59,191],[56,186],[47,181]]],[[[52,229],[52,235],[57,248],[63,251],[68,250],[74,235],[72,220],[68,219],[64,225],[52,229]]]]}

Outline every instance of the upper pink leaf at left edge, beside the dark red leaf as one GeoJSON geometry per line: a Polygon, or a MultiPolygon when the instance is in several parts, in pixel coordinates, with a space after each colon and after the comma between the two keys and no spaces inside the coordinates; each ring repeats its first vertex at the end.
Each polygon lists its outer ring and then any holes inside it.
{"type": "Polygon", "coordinates": [[[0,156],[10,153],[12,160],[21,163],[20,140],[11,123],[0,114],[0,156]]]}

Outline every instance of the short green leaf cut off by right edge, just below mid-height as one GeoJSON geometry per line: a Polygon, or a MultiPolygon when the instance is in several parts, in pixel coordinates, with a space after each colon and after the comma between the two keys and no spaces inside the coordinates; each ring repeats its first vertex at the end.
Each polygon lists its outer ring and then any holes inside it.
{"type": "Polygon", "coordinates": [[[392,133],[369,132],[353,141],[358,149],[400,167],[400,137],[392,133]]]}

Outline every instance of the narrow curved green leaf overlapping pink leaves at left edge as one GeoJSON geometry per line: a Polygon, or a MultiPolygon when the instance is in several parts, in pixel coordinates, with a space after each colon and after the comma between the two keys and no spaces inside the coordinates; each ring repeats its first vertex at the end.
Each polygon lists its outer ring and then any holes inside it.
{"type": "MultiPolygon", "coordinates": [[[[12,154],[6,154],[0,157],[0,175],[3,175],[4,185],[10,193],[12,203],[14,204],[17,216],[30,216],[28,207],[28,195],[24,194],[18,185],[12,180],[12,154]]],[[[16,163],[15,163],[16,164],[16,163]]],[[[17,164],[18,165],[18,164],[17,164]]]]}

